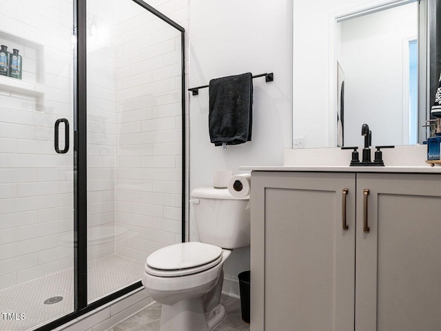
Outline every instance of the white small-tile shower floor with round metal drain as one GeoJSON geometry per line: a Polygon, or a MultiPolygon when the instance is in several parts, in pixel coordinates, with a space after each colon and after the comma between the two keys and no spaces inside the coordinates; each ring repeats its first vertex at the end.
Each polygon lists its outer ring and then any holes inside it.
{"type": "MultiPolygon", "coordinates": [[[[88,298],[99,299],[130,283],[139,281],[144,263],[119,255],[110,255],[88,263],[88,298]]],[[[48,276],[0,290],[0,312],[24,313],[21,321],[0,319],[0,330],[25,331],[74,310],[74,269],[54,272],[48,276]],[[61,301],[44,304],[46,299],[62,297],[61,301]]]]}

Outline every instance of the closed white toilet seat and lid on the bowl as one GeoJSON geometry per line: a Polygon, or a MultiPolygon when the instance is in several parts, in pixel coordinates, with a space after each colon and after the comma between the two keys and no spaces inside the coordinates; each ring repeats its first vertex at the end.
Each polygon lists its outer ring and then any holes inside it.
{"type": "Polygon", "coordinates": [[[207,243],[176,243],[150,254],[145,272],[158,277],[196,274],[218,265],[222,261],[222,251],[207,243]]]}

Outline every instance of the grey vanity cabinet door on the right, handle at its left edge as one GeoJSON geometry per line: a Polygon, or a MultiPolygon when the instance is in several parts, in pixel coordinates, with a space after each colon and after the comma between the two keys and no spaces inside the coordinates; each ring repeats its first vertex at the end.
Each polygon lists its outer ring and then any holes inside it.
{"type": "Polygon", "coordinates": [[[440,330],[440,179],[357,174],[356,331],[440,330]]]}

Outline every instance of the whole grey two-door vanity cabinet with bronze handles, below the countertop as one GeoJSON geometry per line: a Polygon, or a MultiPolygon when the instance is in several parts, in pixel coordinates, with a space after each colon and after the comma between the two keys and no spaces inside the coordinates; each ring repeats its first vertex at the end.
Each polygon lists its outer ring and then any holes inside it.
{"type": "Polygon", "coordinates": [[[252,331],[438,331],[441,174],[253,171],[251,263],[252,331]]]}

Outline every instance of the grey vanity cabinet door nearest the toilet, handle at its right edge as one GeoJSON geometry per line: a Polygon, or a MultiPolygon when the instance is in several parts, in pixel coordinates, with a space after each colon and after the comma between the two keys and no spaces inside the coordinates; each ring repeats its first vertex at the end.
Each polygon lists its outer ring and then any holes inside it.
{"type": "Polygon", "coordinates": [[[353,330],[355,174],[253,172],[251,201],[252,331],[353,330]]]}

